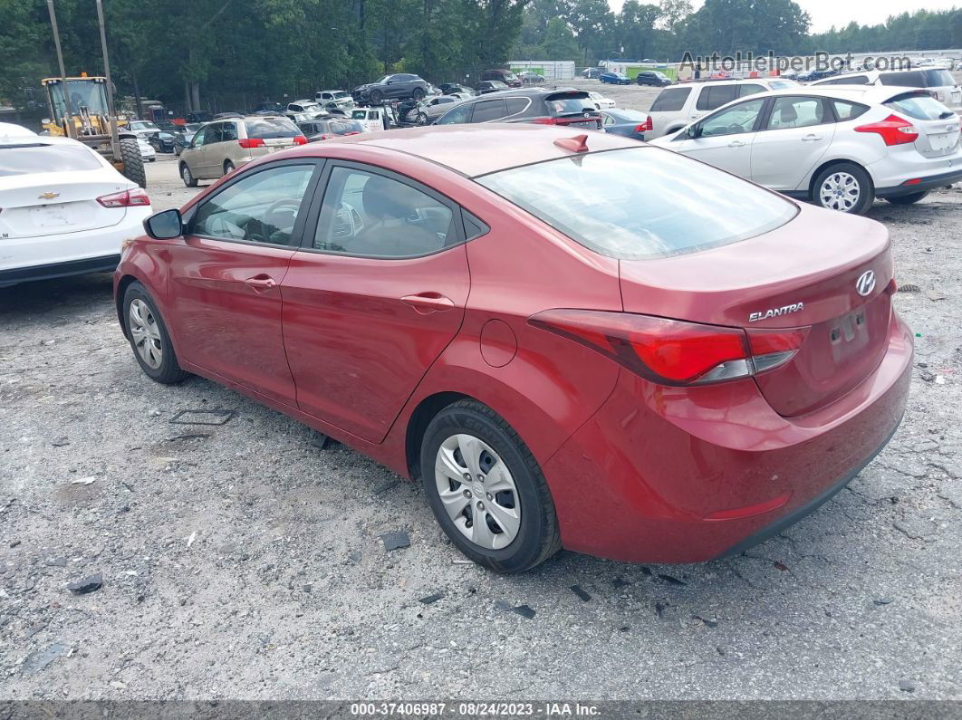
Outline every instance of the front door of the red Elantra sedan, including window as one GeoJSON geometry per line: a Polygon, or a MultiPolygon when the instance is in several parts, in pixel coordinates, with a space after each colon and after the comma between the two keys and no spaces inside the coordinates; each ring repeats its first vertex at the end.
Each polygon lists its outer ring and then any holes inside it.
{"type": "Polygon", "coordinates": [[[196,207],[170,257],[178,353],[292,407],[280,285],[317,167],[281,161],[242,173],[196,207]]]}

